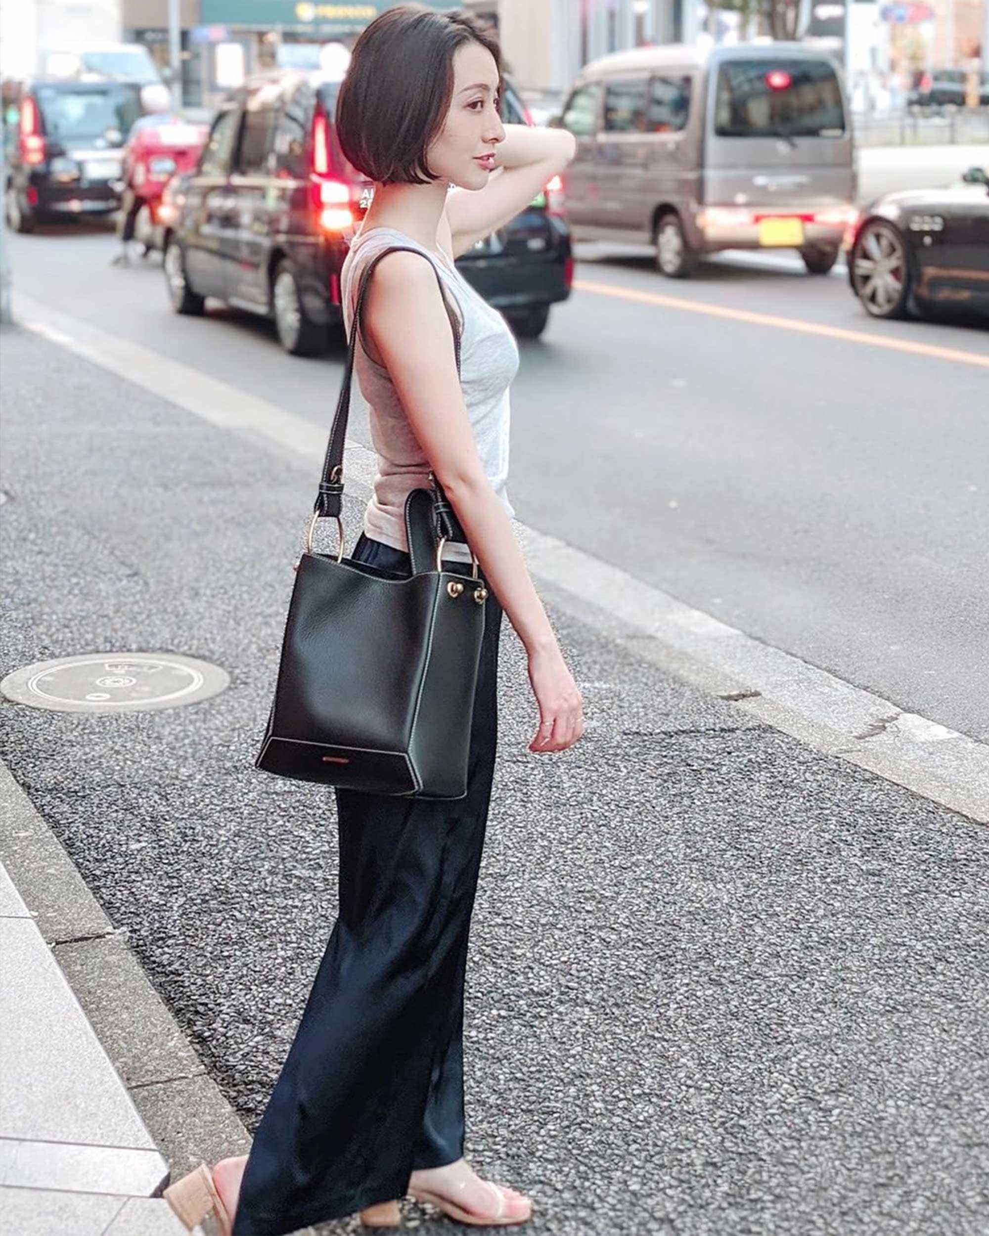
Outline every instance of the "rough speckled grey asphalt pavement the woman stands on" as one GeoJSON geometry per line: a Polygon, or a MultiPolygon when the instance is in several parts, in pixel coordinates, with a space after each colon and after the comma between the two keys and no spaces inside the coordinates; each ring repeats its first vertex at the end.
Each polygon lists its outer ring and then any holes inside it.
{"type": "MultiPolygon", "coordinates": [[[[5,672],[231,675],[163,712],[4,701],[4,758],[252,1127],[336,902],[331,795],[252,768],[315,477],[26,331],[2,352],[5,672]]],[[[527,754],[509,633],[472,1161],[534,1232],[985,1236],[989,831],[554,620],[588,729],[527,754]]]]}

